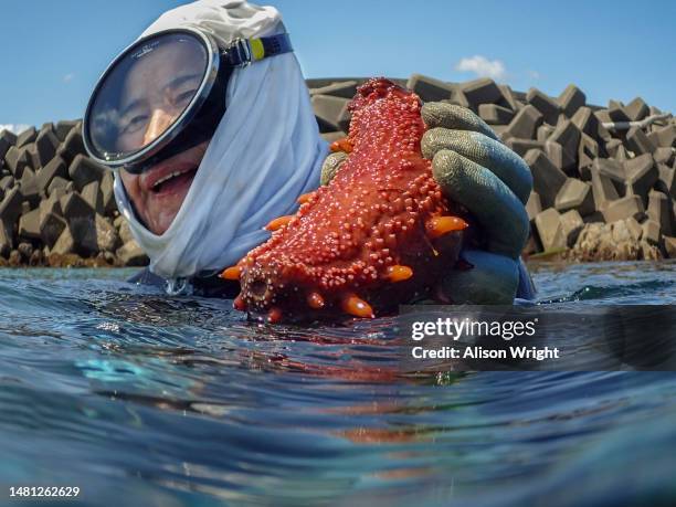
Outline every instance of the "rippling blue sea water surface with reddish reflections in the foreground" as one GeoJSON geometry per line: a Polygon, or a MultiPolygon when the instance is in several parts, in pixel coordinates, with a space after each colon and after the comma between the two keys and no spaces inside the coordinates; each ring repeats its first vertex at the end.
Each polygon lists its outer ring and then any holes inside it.
{"type": "MultiPolygon", "coordinates": [[[[271,327],[129,273],[0,271],[3,493],[57,484],[80,486],[82,505],[162,506],[676,499],[674,373],[401,374],[391,319],[271,327]]],[[[674,304],[675,273],[535,268],[540,300],[568,309],[674,304]]]]}

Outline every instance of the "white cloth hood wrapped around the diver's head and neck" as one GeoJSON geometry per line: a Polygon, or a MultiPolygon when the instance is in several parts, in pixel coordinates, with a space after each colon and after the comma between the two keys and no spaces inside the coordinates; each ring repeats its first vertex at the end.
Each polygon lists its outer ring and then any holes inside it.
{"type": "MultiPolygon", "coordinates": [[[[141,36],[190,27],[228,45],[237,38],[284,32],[279,12],[243,0],[201,0],[162,14],[141,36]]],[[[232,73],[223,115],[173,222],[162,235],[135,216],[119,173],[117,207],[150,258],[169,279],[235,264],[270,233],[262,228],[289,214],[302,193],[319,184],[327,144],[319,136],[293,53],[232,73]]]]}

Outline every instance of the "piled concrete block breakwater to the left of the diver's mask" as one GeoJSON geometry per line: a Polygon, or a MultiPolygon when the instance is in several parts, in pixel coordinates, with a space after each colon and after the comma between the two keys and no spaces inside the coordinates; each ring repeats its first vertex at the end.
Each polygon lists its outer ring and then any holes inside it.
{"type": "Polygon", "coordinates": [[[0,265],[130,266],[147,256],[86,154],[82,124],[0,131],[0,265]]]}

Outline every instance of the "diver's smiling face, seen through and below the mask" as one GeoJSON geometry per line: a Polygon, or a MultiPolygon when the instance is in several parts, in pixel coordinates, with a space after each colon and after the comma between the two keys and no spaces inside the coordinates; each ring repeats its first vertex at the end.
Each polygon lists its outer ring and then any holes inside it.
{"type": "MultiPolygon", "coordinates": [[[[186,109],[202,74],[194,46],[171,43],[144,54],[125,81],[119,106],[117,149],[134,151],[159,137],[186,109]]],[[[163,234],[176,218],[208,141],[162,160],[141,175],[120,170],[138,218],[155,234],[163,234]]]]}

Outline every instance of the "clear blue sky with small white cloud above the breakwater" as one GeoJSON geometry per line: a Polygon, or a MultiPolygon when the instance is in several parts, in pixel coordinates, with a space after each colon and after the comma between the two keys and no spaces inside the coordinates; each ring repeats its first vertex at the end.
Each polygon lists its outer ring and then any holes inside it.
{"type": "MultiPolygon", "coordinates": [[[[98,75],[176,0],[0,2],[0,125],[83,115],[98,75]]],[[[490,75],[676,113],[676,2],[271,0],[306,77],[490,75]],[[422,7],[419,7],[422,6],[422,7]]]]}

